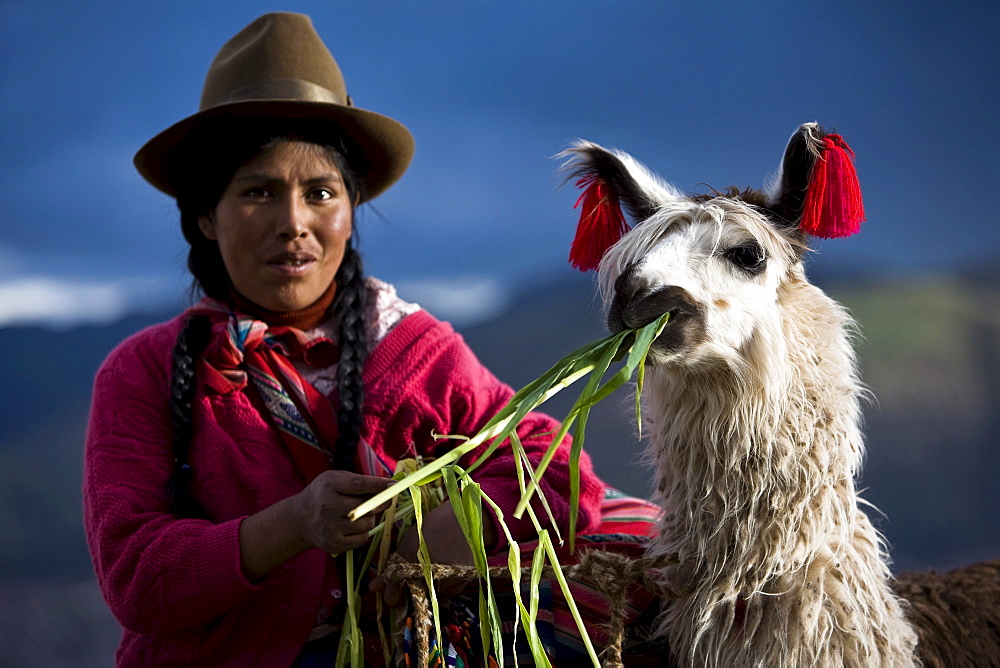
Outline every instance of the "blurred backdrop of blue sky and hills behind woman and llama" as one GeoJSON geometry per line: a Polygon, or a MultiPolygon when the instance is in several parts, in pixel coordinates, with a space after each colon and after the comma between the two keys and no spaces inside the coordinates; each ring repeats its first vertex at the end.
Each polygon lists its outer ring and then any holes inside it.
{"type": "MultiPolygon", "coordinates": [[[[802,122],[841,132],[868,222],[809,273],[860,322],[865,496],[897,569],[1000,556],[993,0],[0,0],[0,666],[113,661],[80,518],[90,385],[189,282],[174,204],[131,158],[277,9],[311,15],[355,103],[416,137],[360,213],[368,271],[515,386],[604,334],[593,277],[566,262],[577,193],[552,156],[570,141],[705,192],[761,185],[802,122]]],[[[587,447],[646,495],[626,394],[587,447]]]]}

